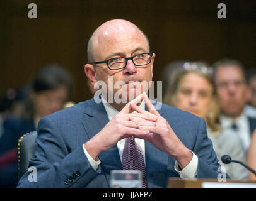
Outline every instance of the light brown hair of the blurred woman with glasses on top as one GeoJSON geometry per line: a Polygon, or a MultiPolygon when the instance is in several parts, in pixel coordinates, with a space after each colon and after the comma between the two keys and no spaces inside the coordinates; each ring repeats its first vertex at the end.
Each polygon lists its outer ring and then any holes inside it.
{"type": "MultiPolygon", "coordinates": [[[[182,82],[183,77],[189,73],[195,73],[209,82],[212,86],[212,95],[216,96],[216,87],[214,84],[213,69],[208,67],[206,63],[203,62],[185,62],[182,68],[179,68],[176,72],[175,79],[172,85],[170,85],[168,91],[163,97],[163,102],[171,106],[175,106],[175,95],[177,94],[178,86],[182,82]]],[[[206,116],[206,123],[209,128],[211,128],[212,133],[219,132],[219,104],[218,100],[214,102],[214,106],[209,109],[206,116]]]]}

